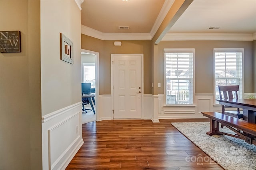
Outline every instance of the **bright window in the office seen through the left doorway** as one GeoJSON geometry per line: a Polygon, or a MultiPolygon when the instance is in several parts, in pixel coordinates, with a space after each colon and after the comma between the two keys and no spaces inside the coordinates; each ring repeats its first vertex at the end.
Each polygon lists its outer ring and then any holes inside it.
{"type": "Polygon", "coordinates": [[[83,63],[83,81],[84,83],[91,83],[91,88],[95,88],[95,64],[83,63]]]}

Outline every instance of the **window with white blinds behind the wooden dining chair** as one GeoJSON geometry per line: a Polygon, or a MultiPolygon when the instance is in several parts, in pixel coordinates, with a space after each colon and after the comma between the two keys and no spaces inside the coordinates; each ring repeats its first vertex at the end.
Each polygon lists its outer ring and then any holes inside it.
{"type": "Polygon", "coordinates": [[[220,99],[219,85],[239,85],[238,98],[242,98],[243,54],[243,48],[214,48],[215,99],[220,99]]]}

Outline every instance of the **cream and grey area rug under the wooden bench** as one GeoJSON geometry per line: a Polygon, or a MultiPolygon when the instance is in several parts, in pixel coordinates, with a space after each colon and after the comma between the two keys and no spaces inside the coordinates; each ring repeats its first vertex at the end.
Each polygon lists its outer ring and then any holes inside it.
{"type": "MultiPolygon", "coordinates": [[[[225,170],[256,170],[255,145],[231,136],[207,135],[210,122],[182,122],[172,125],[225,170]]],[[[234,134],[225,126],[220,131],[234,134]]]]}

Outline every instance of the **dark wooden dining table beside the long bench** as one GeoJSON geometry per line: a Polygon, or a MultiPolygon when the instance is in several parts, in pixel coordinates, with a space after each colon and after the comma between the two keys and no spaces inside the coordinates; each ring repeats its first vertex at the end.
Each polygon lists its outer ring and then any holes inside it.
{"type": "Polygon", "coordinates": [[[250,123],[256,123],[256,99],[216,99],[220,104],[242,108],[244,120],[250,123]]]}

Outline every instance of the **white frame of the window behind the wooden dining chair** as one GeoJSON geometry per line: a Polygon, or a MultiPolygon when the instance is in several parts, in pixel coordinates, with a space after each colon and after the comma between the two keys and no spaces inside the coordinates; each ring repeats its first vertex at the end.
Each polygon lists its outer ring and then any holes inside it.
{"type": "MultiPolygon", "coordinates": [[[[215,60],[215,52],[225,52],[225,53],[227,53],[227,52],[236,52],[236,53],[241,52],[242,53],[242,68],[241,68],[241,70],[242,70],[242,78],[241,78],[242,79],[242,89],[240,88],[241,86],[239,86],[239,91],[242,90],[240,92],[242,93],[241,97],[243,97],[244,96],[244,48],[214,48],[213,49],[213,60],[214,60],[214,62],[213,62],[213,78],[214,78],[214,81],[213,81],[214,82],[214,84],[213,84],[214,100],[213,100],[213,102],[214,102],[214,105],[220,105],[216,101],[216,72],[215,72],[215,62],[216,62],[216,60],[215,60]]],[[[240,97],[240,95],[238,94],[238,98],[239,97],[240,97]]]]}

